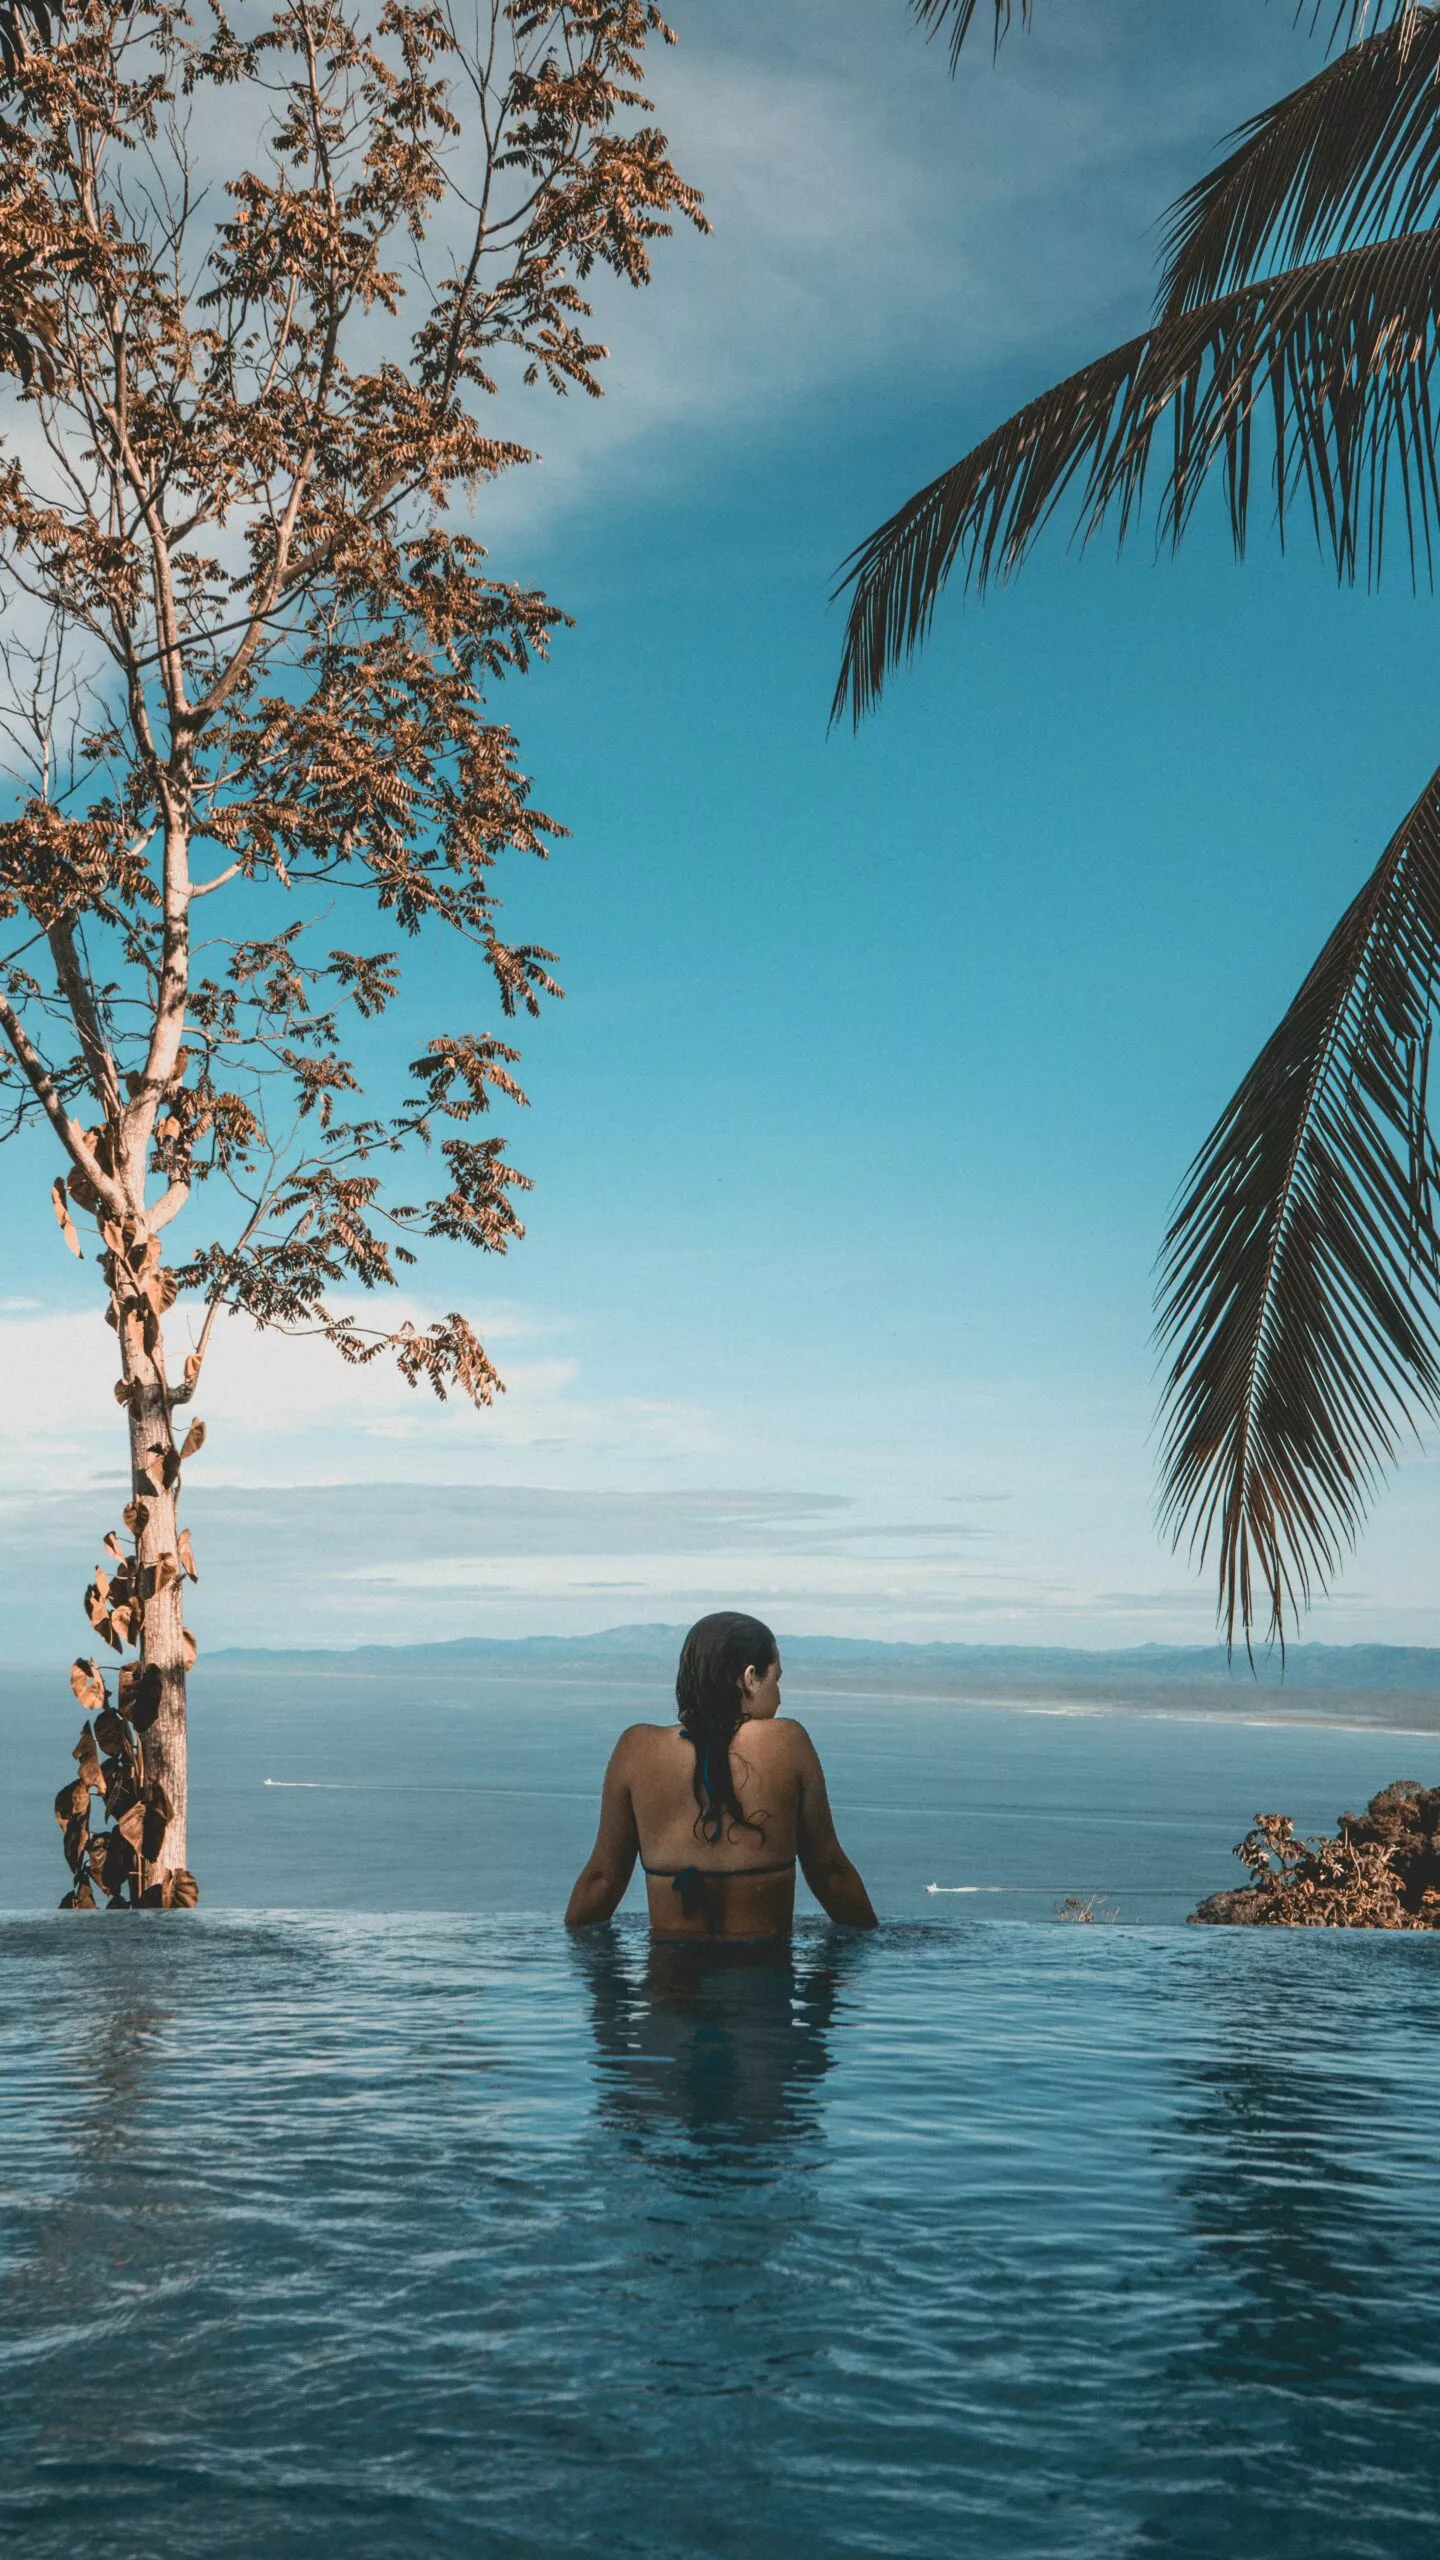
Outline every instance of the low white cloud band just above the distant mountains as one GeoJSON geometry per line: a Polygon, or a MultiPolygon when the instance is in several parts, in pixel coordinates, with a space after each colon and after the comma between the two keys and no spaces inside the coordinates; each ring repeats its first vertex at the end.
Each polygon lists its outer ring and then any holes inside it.
{"type": "MultiPolygon", "coordinates": [[[[956,1375],[922,1408],[876,1390],[771,1418],[594,1393],[571,1344],[553,1352],[520,1306],[497,1316],[518,1357],[492,1413],[346,1370],[320,1341],[220,1331],[184,1487],[208,1651],[584,1633],[717,1605],[810,1633],[1212,1636],[1209,1577],[1153,1536],[1135,1393],[956,1375]]],[[[97,1316],[0,1313],[0,1659],[85,1641],[79,1590],[126,1482],[113,1377],[97,1316]]],[[[1363,1585],[1307,1633],[1440,1638],[1435,1477],[1425,1459],[1399,1472],[1363,1585]]]]}

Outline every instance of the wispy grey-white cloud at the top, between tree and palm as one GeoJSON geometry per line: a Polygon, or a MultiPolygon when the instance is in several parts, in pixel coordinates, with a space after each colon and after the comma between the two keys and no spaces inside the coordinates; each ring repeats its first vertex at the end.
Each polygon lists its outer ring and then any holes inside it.
{"type": "Polygon", "coordinates": [[[912,404],[958,399],[1017,353],[1138,325],[1168,195],[1297,67],[1312,54],[1250,0],[1163,44],[1145,0],[1056,10],[994,67],[976,44],[958,82],[904,0],[687,13],[651,84],[715,236],[659,243],[643,294],[594,289],[600,407],[505,402],[543,468],[484,494],[487,540],[687,479],[817,397],[899,379],[912,404]]]}

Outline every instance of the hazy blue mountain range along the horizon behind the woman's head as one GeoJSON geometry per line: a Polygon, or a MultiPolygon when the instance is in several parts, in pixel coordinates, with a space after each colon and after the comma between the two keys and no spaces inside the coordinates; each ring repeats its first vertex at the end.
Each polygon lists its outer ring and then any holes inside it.
{"type": "MultiPolygon", "coordinates": [[[[459,1636],[451,1644],[364,1644],[338,1651],[251,1651],[210,1654],[210,1661],[415,1661],[492,1667],[495,1672],[551,1672],[553,1677],[653,1679],[674,1669],[684,1626],[610,1626],[594,1636],[459,1636]]],[[[794,1690],[894,1692],[907,1697],[956,1697],[969,1702],[1115,1702],[1138,1705],[1156,1692],[1176,1705],[1186,1697],[1212,1713],[1243,1710],[1263,1692],[1271,1708],[1294,1700],[1309,1713],[1335,1715],[1345,1705],[1373,1700],[1440,1700],[1440,1649],[1402,1644],[1291,1644],[1279,1654],[1256,1654],[1256,1667],[1238,1654],[1225,1659],[1220,1644],[1166,1646],[1138,1644],[1125,1651],[1086,1651],[1020,1644],[881,1644],[866,1636],[787,1636],[781,1654],[794,1690]]]]}

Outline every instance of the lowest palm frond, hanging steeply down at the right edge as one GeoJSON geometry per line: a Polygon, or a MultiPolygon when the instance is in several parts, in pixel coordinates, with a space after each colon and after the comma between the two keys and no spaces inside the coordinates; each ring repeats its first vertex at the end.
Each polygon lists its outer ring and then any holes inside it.
{"type": "Polygon", "coordinates": [[[1161,1262],[1163,1521],[1217,1549],[1220,1618],[1322,1590],[1399,1434],[1440,1398],[1440,773],[1197,1155],[1161,1262]]]}

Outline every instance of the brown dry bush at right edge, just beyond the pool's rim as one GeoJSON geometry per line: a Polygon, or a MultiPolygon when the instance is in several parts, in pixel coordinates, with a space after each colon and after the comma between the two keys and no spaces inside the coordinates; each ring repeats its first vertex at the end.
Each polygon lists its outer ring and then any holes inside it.
{"type": "Polygon", "coordinates": [[[1191,1912],[1253,1928],[1440,1928],[1440,1787],[1394,1779],[1335,1838],[1299,1841],[1286,1812],[1258,1812],[1235,1856],[1250,1874],[1191,1912]]]}

